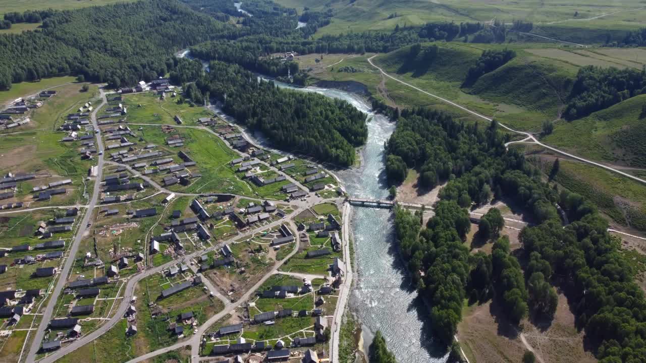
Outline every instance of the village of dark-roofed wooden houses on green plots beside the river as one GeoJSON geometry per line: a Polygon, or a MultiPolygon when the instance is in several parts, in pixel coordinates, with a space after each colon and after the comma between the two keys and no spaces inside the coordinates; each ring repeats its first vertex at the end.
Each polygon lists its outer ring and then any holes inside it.
{"type": "MultiPolygon", "coordinates": [[[[52,120],[78,172],[14,166],[0,180],[1,208],[12,211],[0,227],[19,230],[0,251],[0,284],[13,287],[2,293],[0,339],[36,326],[61,285],[41,323],[41,358],[81,347],[73,357],[120,327],[134,347],[199,337],[213,362],[328,361],[345,269],[337,180],[180,104],[167,79],[100,93],[52,120]]],[[[32,101],[7,112],[39,112],[32,101]]]]}

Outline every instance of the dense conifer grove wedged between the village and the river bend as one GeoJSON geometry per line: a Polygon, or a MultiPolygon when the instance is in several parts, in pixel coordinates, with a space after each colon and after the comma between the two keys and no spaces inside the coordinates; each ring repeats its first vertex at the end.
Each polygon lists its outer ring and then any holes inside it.
{"type": "Polygon", "coordinates": [[[200,95],[222,102],[224,112],[276,147],[347,167],[366,142],[366,114],[346,101],[281,89],[238,65],[213,61],[209,68],[195,83],[200,95]]]}

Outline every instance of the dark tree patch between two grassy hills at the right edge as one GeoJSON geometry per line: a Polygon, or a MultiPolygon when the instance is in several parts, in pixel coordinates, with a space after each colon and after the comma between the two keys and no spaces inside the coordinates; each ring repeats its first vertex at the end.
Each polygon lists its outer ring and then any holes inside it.
{"type": "Polygon", "coordinates": [[[568,119],[581,118],[643,93],[646,70],[581,67],[564,115],[568,119]]]}

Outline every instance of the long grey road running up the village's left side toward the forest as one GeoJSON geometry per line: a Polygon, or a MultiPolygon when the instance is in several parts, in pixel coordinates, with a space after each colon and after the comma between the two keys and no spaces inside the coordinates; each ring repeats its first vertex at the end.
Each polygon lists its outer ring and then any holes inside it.
{"type": "MultiPolygon", "coordinates": [[[[92,119],[92,125],[94,126],[95,130],[99,129],[99,125],[96,123],[96,113],[107,103],[107,98],[105,97],[103,89],[101,89],[100,91],[101,104],[98,105],[90,115],[90,118],[92,119]]],[[[72,269],[72,266],[74,265],[76,253],[78,252],[81,240],[83,240],[83,235],[87,230],[87,223],[90,221],[92,210],[94,209],[94,206],[99,199],[99,191],[101,190],[101,174],[103,174],[103,140],[101,140],[100,134],[96,135],[96,145],[100,155],[98,155],[98,173],[94,182],[94,191],[92,191],[92,198],[90,199],[88,208],[85,211],[83,220],[81,220],[81,225],[79,226],[78,231],[76,231],[76,238],[74,238],[74,242],[72,242],[72,246],[69,249],[67,259],[65,260],[65,265],[63,265],[63,270],[58,277],[56,287],[54,287],[54,291],[52,291],[52,296],[50,296],[49,303],[47,304],[47,307],[45,307],[45,311],[43,311],[43,318],[41,319],[41,323],[38,326],[34,341],[32,342],[32,346],[30,347],[29,353],[26,358],[27,363],[33,363],[34,360],[36,360],[36,354],[40,349],[43,337],[45,337],[45,329],[47,329],[47,325],[52,318],[52,313],[54,312],[54,307],[58,302],[58,297],[61,295],[61,292],[65,288],[65,284],[67,284],[67,276],[70,273],[70,269],[72,269]]]]}

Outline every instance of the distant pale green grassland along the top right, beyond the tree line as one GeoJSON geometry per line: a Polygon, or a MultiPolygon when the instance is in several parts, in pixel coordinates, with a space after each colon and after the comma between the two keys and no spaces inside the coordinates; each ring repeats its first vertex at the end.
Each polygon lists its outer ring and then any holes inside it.
{"type": "Polygon", "coordinates": [[[416,26],[427,22],[486,22],[496,19],[502,23],[514,20],[532,21],[536,34],[556,37],[566,41],[601,43],[606,34],[623,37],[627,30],[646,25],[643,6],[638,0],[622,3],[605,3],[600,0],[566,2],[563,0],[528,0],[509,2],[503,0],[468,1],[450,3],[433,0],[276,0],[284,6],[318,11],[332,9],[335,16],[329,26],[319,28],[316,37],[328,34],[393,30],[395,26],[416,26]],[[628,10],[621,11],[620,10],[628,10]],[[585,21],[590,17],[612,14],[585,21]],[[576,13],[576,16],[575,16],[576,13]]]}

